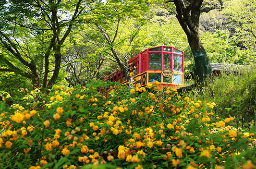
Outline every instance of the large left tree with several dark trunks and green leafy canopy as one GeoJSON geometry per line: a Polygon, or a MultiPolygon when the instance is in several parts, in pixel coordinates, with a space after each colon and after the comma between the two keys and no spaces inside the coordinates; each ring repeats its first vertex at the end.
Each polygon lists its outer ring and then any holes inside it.
{"type": "Polygon", "coordinates": [[[61,69],[64,42],[83,12],[84,2],[1,1],[0,71],[31,79],[34,88],[51,88],[61,69]]]}

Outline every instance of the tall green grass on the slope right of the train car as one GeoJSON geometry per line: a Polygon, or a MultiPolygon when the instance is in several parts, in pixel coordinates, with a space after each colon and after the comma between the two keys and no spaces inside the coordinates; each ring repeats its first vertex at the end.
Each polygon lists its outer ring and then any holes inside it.
{"type": "Polygon", "coordinates": [[[232,116],[237,125],[255,125],[256,65],[239,68],[235,72],[222,72],[203,86],[185,94],[194,100],[214,101],[217,115],[232,116]]]}

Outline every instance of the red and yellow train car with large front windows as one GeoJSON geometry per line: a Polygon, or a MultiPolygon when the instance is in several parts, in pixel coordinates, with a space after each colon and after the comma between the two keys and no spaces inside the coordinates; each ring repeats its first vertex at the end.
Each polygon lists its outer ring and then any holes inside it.
{"type": "MultiPolygon", "coordinates": [[[[137,54],[128,61],[129,72],[135,70],[134,84],[137,87],[145,87],[147,84],[153,84],[156,81],[160,86],[175,87],[183,85],[184,82],[184,52],[173,47],[159,46],[148,48],[137,54]],[[165,77],[162,74],[164,68],[170,68],[173,71],[171,77],[165,77]]],[[[126,82],[124,72],[119,68],[110,73],[104,81],[126,82]]]]}

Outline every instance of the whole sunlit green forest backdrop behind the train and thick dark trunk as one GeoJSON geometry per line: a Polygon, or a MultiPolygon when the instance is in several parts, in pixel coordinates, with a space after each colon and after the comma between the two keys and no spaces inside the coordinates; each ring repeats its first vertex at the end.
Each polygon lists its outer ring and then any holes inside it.
{"type": "MultiPolygon", "coordinates": [[[[119,62],[162,44],[184,51],[185,79],[194,77],[193,55],[172,2],[126,1],[124,7],[121,1],[62,1],[56,16],[39,1],[2,3],[0,90],[14,99],[22,88],[103,79],[119,62]]],[[[254,0],[204,0],[200,38],[211,63],[256,62],[254,16],[254,0]]]]}

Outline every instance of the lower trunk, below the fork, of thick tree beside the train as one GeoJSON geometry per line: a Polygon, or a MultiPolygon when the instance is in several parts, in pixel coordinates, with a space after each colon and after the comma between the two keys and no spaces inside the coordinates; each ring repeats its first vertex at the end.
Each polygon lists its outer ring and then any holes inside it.
{"type": "Polygon", "coordinates": [[[191,32],[187,37],[195,60],[195,75],[198,78],[197,81],[201,83],[207,75],[212,73],[212,69],[199,34],[197,32],[191,32]]]}

